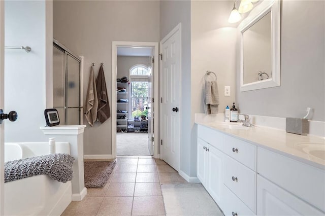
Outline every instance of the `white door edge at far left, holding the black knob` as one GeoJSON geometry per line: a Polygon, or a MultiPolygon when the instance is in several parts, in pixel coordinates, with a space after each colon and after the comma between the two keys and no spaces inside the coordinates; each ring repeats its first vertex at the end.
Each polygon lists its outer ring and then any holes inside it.
{"type": "MultiPolygon", "coordinates": [[[[5,68],[5,13],[4,1],[0,1],[0,109],[4,109],[4,68],[5,68]]],[[[5,128],[0,124],[0,215],[4,215],[5,188],[5,128]]]]}

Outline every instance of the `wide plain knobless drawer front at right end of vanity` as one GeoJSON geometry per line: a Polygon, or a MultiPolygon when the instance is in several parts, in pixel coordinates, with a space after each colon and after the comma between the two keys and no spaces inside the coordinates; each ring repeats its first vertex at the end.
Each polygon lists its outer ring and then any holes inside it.
{"type": "Polygon", "coordinates": [[[325,211],[325,171],[269,150],[257,149],[257,172],[325,211]]]}

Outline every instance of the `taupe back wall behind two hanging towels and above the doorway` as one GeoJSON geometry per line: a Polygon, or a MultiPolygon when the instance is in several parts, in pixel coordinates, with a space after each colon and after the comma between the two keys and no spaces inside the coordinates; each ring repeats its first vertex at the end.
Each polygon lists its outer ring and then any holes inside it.
{"type": "MultiPolygon", "coordinates": [[[[83,55],[83,96],[89,79],[91,62],[95,76],[100,62],[111,101],[112,41],[159,41],[158,1],[54,1],[53,37],[78,55],[83,55]]],[[[114,92],[115,93],[115,92],[114,92]]],[[[84,122],[86,123],[85,119],[84,122]]],[[[87,124],[84,132],[84,154],[112,154],[111,118],[103,124],[87,124]]]]}

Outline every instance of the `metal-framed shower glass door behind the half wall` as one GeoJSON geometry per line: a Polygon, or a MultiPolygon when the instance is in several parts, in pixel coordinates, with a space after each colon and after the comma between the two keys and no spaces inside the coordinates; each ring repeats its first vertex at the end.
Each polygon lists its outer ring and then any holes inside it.
{"type": "Polygon", "coordinates": [[[59,113],[60,124],[82,124],[80,65],[78,56],[53,40],[53,107],[59,113]]]}

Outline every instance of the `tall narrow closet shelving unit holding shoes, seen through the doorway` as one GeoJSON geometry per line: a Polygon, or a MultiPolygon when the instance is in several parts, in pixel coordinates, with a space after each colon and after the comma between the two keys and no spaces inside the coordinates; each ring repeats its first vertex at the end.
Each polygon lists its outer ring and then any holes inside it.
{"type": "MultiPolygon", "coordinates": [[[[128,99],[128,82],[121,83],[117,82],[116,87],[125,88],[126,92],[116,92],[116,100],[119,99],[128,99]]],[[[128,115],[128,102],[116,102],[117,111],[125,111],[116,113],[116,130],[117,132],[127,132],[127,115],[128,115]],[[121,117],[125,116],[124,119],[121,117]]]]}

